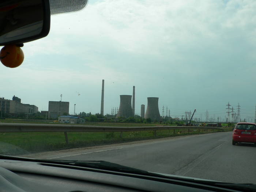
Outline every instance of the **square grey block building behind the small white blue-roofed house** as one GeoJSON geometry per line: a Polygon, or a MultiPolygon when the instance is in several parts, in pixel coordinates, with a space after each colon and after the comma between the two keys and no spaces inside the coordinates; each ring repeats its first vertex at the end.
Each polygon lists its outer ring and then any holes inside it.
{"type": "Polygon", "coordinates": [[[57,119],[63,114],[69,114],[69,102],[49,101],[48,118],[57,119]]]}

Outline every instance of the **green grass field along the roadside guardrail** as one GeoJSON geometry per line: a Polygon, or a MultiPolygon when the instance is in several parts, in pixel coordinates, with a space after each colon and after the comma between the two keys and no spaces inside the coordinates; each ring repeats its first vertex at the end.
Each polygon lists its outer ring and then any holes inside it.
{"type": "MultiPolygon", "coordinates": [[[[110,126],[108,123],[103,124],[105,126],[110,126]]],[[[112,124],[115,124],[115,126],[120,126],[116,125],[116,123],[112,124]]],[[[134,123],[132,125],[128,125],[127,123],[120,124],[123,126],[145,126],[145,124],[134,123]]],[[[97,125],[101,125],[101,123],[97,123],[97,125]]],[[[212,130],[203,128],[200,128],[200,132],[199,129],[191,129],[189,132],[188,129],[176,129],[175,131],[160,130],[156,131],[156,135],[154,135],[154,131],[135,131],[123,132],[122,136],[120,132],[67,132],[68,143],[65,141],[64,132],[0,133],[0,154],[14,155],[22,153],[35,153],[41,151],[207,133],[211,131],[212,130]]],[[[213,130],[213,132],[217,131],[219,130],[213,130]]],[[[231,131],[231,128],[226,128],[225,131],[231,131]]]]}

